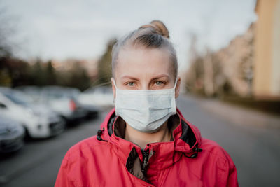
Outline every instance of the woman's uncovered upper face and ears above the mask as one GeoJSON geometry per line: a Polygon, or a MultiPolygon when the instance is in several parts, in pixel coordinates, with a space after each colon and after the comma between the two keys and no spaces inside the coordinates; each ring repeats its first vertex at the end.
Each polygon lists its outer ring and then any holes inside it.
{"type": "MultiPolygon", "coordinates": [[[[158,90],[174,88],[174,72],[169,52],[157,48],[122,49],[118,55],[115,81],[122,90],[158,90]]],[[[179,96],[178,78],[175,97],[179,96]]],[[[114,97],[116,88],[112,82],[114,97]]]]}

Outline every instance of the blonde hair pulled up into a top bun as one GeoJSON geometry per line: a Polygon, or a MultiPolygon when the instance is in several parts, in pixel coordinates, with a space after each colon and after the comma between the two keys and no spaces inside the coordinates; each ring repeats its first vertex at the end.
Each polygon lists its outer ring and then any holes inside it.
{"type": "Polygon", "coordinates": [[[118,63],[118,54],[121,48],[144,47],[144,48],[167,48],[170,53],[170,60],[173,63],[174,80],[178,74],[178,62],[176,50],[169,41],[169,31],[163,22],[153,20],[150,24],[142,25],[139,29],[130,32],[127,36],[119,39],[112,49],[112,74],[115,76],[116,64],[118,63]]]}

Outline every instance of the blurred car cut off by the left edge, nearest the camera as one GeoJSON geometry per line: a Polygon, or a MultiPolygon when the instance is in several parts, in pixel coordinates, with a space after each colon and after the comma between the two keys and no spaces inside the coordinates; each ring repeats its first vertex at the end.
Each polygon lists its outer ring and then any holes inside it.
{"type": "Polygon", "coordinates": [[[0,115],[0,153],[20,150],[24,145],[24,137],[25,129],[20,123],[0,115]]]}

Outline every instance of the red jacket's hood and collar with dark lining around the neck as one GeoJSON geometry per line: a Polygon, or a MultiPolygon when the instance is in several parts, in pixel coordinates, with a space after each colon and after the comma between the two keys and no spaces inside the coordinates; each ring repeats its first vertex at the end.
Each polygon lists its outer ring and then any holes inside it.
{"type": "Polygon", "coordinates": [[[101,125],[101,130],[97,132],[97,140],[111,144],[111,148],[127,170],[143,181],[149,183],[156,177],[156,170],[171,167],[183,155],[195,159],[198,153],[202,151],[199,148],[201,143],[200,131],[183,118],[179,109],[176,109],[177,113],[168,119],[168,123],[171,122],[173,125],[171,127],[172,141],[147,144],[144,150],[121,138],[125,137],[126,124],[122,118],[116,116],[115,111],[115,109],[112,109],[106,116],[104,123],[101,125]]]}

